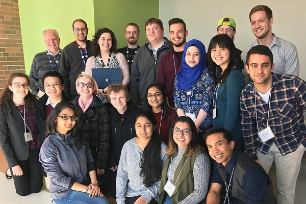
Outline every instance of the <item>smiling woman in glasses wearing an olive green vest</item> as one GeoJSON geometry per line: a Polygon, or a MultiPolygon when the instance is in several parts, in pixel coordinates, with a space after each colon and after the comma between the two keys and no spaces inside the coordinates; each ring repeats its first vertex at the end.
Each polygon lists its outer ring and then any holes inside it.
{"type": "Polygon", "coordinates": [[[196,126],[190,117],[173,121],[167,160],[162,171],[160,200],[170,203],[199,203],[208,191],[210,161],[198,144],[196,126]]]}

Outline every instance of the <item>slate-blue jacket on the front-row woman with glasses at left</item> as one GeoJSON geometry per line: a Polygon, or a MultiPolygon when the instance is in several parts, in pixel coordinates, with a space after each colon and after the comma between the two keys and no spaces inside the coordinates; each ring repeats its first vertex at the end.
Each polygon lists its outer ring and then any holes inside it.
{"type": "Polygon", "coordinates": [[[88,172],[95,170],[88,144],[78,148],[70,132],[49,135],[41,146],[39,161],[50,175],[50,195],[55,199],[72,192],[74,182],[88,185],[88,172]]]}

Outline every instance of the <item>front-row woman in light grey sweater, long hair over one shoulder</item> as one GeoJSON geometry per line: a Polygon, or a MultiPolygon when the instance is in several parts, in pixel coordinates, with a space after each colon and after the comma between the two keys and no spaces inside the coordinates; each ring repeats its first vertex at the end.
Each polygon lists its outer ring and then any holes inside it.
{"type": "Polygon", "coordinates": [[[141,110],[135,116],[137,137],[122,148],[117,172],[117,204],[160,203],[158,191],[167,146],[155,130],[151,111],[141,110]]]}

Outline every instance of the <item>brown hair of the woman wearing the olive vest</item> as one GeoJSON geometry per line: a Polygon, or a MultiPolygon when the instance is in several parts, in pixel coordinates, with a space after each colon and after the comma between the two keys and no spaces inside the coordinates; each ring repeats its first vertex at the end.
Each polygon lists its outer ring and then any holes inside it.
{"type": "Polygon", "coordinates": [[[186,116],[181,116],[181,117],[177,117],[175,118],[175,120],[173,121],[172,125],[171,125],[171,129],[169,131],[169,143],[168,143],[168,149],[165,151],[165,154],[168,155],[168,158],[171,158],[172,156],[175,156],[177,154],[177,152],[179,152],[179,146],[177,146],[177,144],[174,142],[173,139],[173,128],[175,127],[175,124],[177,122],[186,122],[191,129],[191,140],[186,148],[186,151],[184,153],[183,156],[185,157],[189,157],[192,154],[194,154],[194,152],[201,150],[201,151],[205,151],[203,147],[201,147],[198,144],[198,136],[197,136],[197,131],[196,131],[196,126],[194,124],[194,122],[192,121],[192,119],[190,117],[186,117],[186,116]]]}

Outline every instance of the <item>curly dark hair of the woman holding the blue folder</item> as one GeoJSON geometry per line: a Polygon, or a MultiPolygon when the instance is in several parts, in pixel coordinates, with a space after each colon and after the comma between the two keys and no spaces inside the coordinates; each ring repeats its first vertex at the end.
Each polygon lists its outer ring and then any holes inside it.
{"type": "Polygon", "coordinates": [[[93,36],[92,39],[92,53],[94,57],[97,57],[100,54],[100,45],[98,44],[98,40],[100,36],[104,33],[110,33],[112,36],[112,47],[111,52],[117,53],[117,39],[115,37],[115,34],[112,30],[108,28],[99,29],[93,36]]]}

